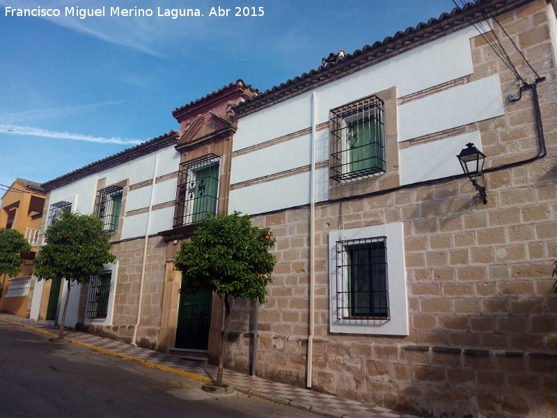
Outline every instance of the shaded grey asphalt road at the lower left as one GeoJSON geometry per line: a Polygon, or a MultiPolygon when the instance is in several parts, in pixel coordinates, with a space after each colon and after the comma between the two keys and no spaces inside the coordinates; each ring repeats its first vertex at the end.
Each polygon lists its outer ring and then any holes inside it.
{"type": "Polygon", "coordinates": [[[316,418],[0,322],[0,418],[316,418]]]}

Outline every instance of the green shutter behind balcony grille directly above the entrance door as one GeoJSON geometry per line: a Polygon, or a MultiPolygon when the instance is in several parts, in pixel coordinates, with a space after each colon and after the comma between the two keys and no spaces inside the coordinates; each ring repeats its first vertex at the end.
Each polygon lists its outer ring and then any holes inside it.
{"type": "Polygon", "coordinates": [[[217,213],[219,190],[219,164],[203,167],[195,171],[196,184],[194,208],[191,210],[191,222],[199,222],[207,213],[217,213]]]}

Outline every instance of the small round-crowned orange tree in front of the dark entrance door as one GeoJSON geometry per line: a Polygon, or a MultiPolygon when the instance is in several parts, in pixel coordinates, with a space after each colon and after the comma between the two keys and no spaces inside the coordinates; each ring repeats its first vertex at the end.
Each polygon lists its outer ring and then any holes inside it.
{"type": "Polygon", "coordinates": [[[182,270],[180,292],[214,292],[224,300],[217,385],[222,373],[230,301],[228,296],[249,297],[265,303],[265,286],[272,280],[276,259],[269,253],[275,239],[271,231],[251,225],[248,215],[207,216],[190,241],[182,242],[175,266],[182,270]]]}

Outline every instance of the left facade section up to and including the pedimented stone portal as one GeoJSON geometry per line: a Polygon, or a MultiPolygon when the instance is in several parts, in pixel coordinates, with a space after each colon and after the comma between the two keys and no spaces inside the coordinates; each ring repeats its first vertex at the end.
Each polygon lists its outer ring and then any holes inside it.
{"type": "MultiPolygon", "coordinates": [[[[88,285],[70,292],[68,327],[165,352],[217,353],[221,301],[212,295],[180,299],[173,258],[207,212],[228,210],[237,129],[230,107],[254,93],[242,80],[224,86],[175,109],[180,130],[43,184],[43,231],[63,208],[93,213],[116,256],[88,285]]],[[[65,293],[61,280],[38,281],[31,318],[58,320],[65,293]]]]}

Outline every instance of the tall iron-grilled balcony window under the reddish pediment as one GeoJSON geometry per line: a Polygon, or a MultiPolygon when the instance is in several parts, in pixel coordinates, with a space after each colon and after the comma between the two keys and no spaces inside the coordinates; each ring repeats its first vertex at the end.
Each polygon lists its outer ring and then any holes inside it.
{"type": "Polygon", "coordinates": [[[199,222],[207,213],[217,213],[220,158],[207,154],[180,164],[174,226],[199,222]]]}

